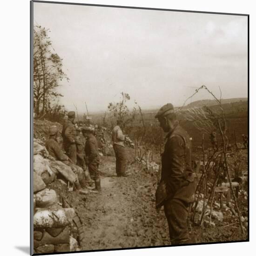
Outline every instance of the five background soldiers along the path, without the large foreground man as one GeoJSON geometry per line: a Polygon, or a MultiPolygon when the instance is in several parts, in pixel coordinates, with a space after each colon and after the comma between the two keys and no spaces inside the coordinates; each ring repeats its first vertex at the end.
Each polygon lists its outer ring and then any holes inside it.
{"type": "MultiPolygon", "coordinates": [[[[49,138],[46,148],[49,154],[60,164],[69,166],[77,176],[74,182],[75,189],[83,194],[92,191],[101,191],[101,177],[99,173],[100,155],[97,139],[94,136],[94,128],[86,126],[79,128],[75,123],[75,112],[67,113],[67,121],[64,122],[61,136],[63,149],[59,144],[59,131],[57,126],[49,128],[49,138]],[[81,138],[81,133],[83,138],[81,138]],[[84,142],[86,139],[86,142],[84,142]],[[94,186],[94,188],[93,188],[94,186]]],[[[121,130],[122,121],[118,120],[112,132],[113,148],[116,156],[116,175],[128,176],[126,171],[126,150],[124,141],[126,136],[121,130]]]]}

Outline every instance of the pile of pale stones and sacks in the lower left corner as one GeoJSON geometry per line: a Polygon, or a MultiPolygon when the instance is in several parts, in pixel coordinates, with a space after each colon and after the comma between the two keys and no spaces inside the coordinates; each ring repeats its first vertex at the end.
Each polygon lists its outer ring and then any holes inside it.
{"type": "Polygon", "coordinates": [[[56,165],[57,161],[51,160],[42,141],[34,139],[34,253],[78,248],[77,241],[70,236],[74,209],[62,208],[60,195],[54,189],[47,189],[55,181],[58,170],[67,173],[56,165]]]}

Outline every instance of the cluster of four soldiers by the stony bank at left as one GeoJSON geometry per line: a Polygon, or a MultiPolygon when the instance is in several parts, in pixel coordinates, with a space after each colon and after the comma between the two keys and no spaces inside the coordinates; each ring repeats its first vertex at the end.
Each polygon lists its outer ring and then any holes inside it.
{"type": "Polygon", "coordinates": [[[56,126],[49,128],[49,139],[46,148],[55,160],[71,167],[77,179],[74,182],[75,189],[87,194],[90,191],[101,191],[101,178],[98,171],[100,156],[97,140],[94,136],[94,128],[79,128],[75,125],[75,112],[67,113],[68,119],[62,128],[63,149],[58,143],[59,131],[56,126]],[[80,137],[82,133],[86,139],[84,143],[80,137]],[[94,188],[92,189],[94,185],[94,188]]]}

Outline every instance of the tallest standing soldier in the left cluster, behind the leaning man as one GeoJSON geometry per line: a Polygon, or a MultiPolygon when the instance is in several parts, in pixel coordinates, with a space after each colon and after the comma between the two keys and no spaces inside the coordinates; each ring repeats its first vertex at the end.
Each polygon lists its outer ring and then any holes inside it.
{"type": "Polygon", "coordinates": [[[67,113],[68,119],[63,124],[61,135],[63,137],[63,148],[70,159],[76,164],[76,127],[74,124],[75,113],[70,111],[67,113]]]}

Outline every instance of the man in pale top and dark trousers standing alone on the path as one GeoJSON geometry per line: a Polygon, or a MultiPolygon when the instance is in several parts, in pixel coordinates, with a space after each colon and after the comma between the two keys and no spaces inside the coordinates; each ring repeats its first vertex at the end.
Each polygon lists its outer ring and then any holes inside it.
{"type": "Polygon", "coordinates": [[[122,121],[117,120],[116,126],[112,131],[113,148],[115,151],[115,171],[118,177],[128,176],[130,173],[126,172],[126,151],[124,147],[125,135],[123,135],[122,121]]]}

